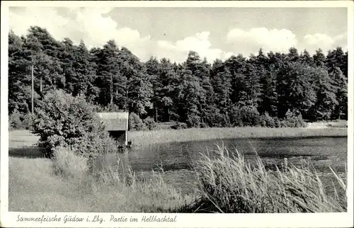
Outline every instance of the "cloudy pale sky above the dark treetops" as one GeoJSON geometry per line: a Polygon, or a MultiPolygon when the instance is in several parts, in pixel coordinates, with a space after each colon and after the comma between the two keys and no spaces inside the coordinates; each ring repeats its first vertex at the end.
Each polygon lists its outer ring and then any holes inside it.
{"type": "Polygon", "coordinates": [[[142,61],[183,62],[190,50],[212,62],[260,48],[313,54],[348,47],[347,8],[9,8],[14,33],[25,35],[31,25],[89,48],[113,39],[142,61]]]}

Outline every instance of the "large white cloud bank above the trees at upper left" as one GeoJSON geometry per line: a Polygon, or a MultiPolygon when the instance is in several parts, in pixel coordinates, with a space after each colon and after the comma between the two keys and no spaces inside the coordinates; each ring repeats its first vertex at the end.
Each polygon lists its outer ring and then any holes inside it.
{"type": "Polygon", "coordinates": [[[146,58],[141,50],[150,40],[142,37],[138,30],[119,26],[110,16],[110,8],[69,8],[62,16],[56,8],[25,8],[24,11],[10,11],[10,28],[18,35],[25,35],[30,26],[47,28],[57,40],[70,38],[74,43],[84,40],[87,47],[100,47],[108,40],[115,40],[119,46],[129,48],[138,57],[146,58]],[[139,56],[142,55],[142,56],[139,56]]]}

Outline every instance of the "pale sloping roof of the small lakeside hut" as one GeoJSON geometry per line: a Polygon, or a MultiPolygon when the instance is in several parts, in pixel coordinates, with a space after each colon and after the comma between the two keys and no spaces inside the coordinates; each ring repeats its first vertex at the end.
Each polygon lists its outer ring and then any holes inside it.
{"type": "Polygon", "coordinates": [[[128,118],[129,113],[97,113],[98,116],[103,120],[105,125],[105,130],[128,130],[128,118]]]}

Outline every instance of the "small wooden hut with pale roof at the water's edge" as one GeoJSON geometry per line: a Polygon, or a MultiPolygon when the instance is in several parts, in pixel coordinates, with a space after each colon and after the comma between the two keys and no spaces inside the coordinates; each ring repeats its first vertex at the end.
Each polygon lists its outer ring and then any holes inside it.
{"type": "Polygon", "coordinates": [[[129,113],[97,113],[103,120],[105,130],[113,137],[118,147],[127,147],[127,131],[129,113]]]}

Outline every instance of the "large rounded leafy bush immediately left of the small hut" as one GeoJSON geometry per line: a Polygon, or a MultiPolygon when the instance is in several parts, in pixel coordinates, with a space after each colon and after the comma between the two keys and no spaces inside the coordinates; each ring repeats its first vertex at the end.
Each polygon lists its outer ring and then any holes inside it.
{"type": "Polygon", "coordinates": [[[73,97],[61,90],[47,93],[36,108],[33,133],[40,135],[40,146],[48,156],[55,147],[75,147],[85,155],[100,153],[98,142],[108,138],[84,96],[73,97]]]}

